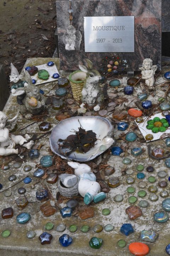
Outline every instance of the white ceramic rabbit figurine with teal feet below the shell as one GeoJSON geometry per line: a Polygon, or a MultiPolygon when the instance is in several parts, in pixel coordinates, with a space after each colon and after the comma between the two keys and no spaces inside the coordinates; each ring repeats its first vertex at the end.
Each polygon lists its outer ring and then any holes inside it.
{"type": "MultiPolygon", "coordinates": [[[[100,192],[100,184],[96,182],[96,176],[91,172],[91,168],[87,164],[75,162],[67,162],[69,166],[74,168],[74,174],[80,177],[78,191],[84,197],[84,203],[90,204],[95,196],[100,192]]],[[[106,198],[105,193],[101,192],[101,197],[106,198]]],[[[101,199],[102,200],[102,199],[101,199]]]]}

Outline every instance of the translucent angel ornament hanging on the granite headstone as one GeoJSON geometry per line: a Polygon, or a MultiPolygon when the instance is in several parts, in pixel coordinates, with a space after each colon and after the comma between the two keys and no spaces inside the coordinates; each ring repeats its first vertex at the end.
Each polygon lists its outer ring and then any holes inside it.
{"type": "Polygon", "coordinates": [[[69,25],[67,28],[67,32],[63,35],[63,42],[65,45],[65,49],[68,51],[79,50],[81,43],[81,33],[79,30],[75,30],[72,25],[69,25]]]}

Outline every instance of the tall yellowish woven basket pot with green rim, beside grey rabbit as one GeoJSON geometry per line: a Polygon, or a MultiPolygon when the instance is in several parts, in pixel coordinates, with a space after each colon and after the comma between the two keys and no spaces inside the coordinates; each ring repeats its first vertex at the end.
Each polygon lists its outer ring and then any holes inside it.
{"type": "Polygon", "coordinates": [[[77,101],[80,101],[81,91],[83,89],[83,85],[86,82],[86,73],[81,70],[77,70],[71,73],[68,79],[72,87],[73,98],[77,101]]]}

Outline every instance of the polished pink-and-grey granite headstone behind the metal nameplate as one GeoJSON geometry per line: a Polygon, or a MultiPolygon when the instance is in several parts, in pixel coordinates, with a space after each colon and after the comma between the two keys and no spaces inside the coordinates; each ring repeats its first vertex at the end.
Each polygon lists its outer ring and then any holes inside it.
{"type": "MultiPolygon", "coordinates": [[[[72,25],[82,35],[80,50],[68,51],[63,43],[63,34],[69,26],[69,1],[56,1],[58,43],[60,65],[63,70],[77,70],[85,58],[90,59],[95,68],[105,56],[119,55],[128,60],[129,67],[138,70],[143,59],[150,58],[154,64],[161,61],[161,18],[162,3],[158,0],[73,0],[72,25]],[[135,52],[85,52],[84,17],[86,16],[135,16],[135,52]]],[[[89,35],[90,37],[90,35],[89,35]]]]}

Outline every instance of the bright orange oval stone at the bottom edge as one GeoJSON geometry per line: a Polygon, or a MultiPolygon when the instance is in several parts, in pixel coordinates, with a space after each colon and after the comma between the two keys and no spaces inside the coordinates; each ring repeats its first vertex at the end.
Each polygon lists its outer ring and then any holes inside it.
{"type": "Polygon", "coordinates": [[[129,245],[129,251],[136,256],[145,256],[149,253],[149,247],[140,242],[134,242],[129,245]]]}

